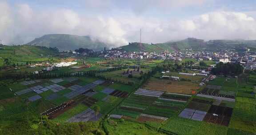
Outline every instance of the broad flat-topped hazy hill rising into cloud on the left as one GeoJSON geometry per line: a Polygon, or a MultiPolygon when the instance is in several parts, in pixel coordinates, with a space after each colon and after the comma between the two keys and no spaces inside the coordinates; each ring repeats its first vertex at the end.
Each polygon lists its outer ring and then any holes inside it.
{"type": "Polygon", "coordinates": [[[92,40],[90,36],[76,36],[68,34],[50,34],[29,42],[30,45],[58,48],[60,51],[75,50],[78,48],[88,48],[93,50],[103,50],[109,45],[99,40],[92,40]]]}

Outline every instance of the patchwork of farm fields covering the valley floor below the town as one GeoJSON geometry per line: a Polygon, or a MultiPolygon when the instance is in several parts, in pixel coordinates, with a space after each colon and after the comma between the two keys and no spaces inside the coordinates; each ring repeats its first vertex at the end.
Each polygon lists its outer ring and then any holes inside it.
{"type": "MultiPolygon", "coordinates": [[[[74,66],[81,66],[83,62],[80,60],[80,64],[74,66]]],[[[53,73],[98,70],[119,63],[133,69],[138,63],[137,60],[89,57],[85,62],[93,67],[79,70],[63,67],[53,73]]],[[[141,60],[140,70],[147,73],[162,62],[141,60]]],[[[20,115],[40,118],[43,112],[48,120],[43,119],[54,125],[80,126],[99,121],[99,129],[109,135],[256,134],[256,95],[254,84],[245,79],[248,76],[242,79],[217,76],[199,87],[204,77],[180,75],[173,70],[165,75],[179,76],[182,80],[160,79],[159,69],[140,86],[143,82],[140,72],[132,70],[133,76],[128,78],[124,71],[127,69],[96,72],[111,78],[106,80],[73,76],[26,79],[0,86],[0,120],[17,119],[20,115]],[[125,82],[134,82],[134,85],[125,82]],[[96,107],[100,108],[98,115],[96,107]]]]}

